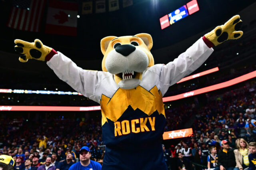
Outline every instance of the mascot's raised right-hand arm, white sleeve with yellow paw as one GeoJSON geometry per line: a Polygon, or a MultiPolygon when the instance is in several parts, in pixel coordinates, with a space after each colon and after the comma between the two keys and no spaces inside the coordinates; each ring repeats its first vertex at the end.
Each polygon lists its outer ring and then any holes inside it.
{"type": "Polygon", "coordinates": [[[164,84],[163,92],[166,93],[171,85],[200,67],[213,52],[212,47],[226,40],[240,38],[243,32],[237,30],[241,25],[239,15],[232,17],[224,25],[205,34],[174,61],[164,65],[160,72],[160,81],[164,84]]]}

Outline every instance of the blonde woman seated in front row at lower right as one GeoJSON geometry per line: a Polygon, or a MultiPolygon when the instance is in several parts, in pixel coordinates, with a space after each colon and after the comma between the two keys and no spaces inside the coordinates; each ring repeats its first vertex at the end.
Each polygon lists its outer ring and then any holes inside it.
{"type": "Polygon", "coordinates": [[[249,168],[249,145],[246,140],[244,140],[243,138],[239,138],[236,141],[236,147],[237,149],[234,150],[236,157],[236,168],[234,170],[246,170],[249,168]]]}

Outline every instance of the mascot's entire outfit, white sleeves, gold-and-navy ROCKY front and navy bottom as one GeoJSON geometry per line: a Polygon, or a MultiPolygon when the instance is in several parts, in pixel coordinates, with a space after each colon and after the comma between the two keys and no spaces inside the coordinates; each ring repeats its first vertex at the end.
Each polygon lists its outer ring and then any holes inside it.
{"type": "Polygon", "coordinates": [[[174,61],[156,64],[142,73],[134,89],[121,89],[106,71],[83,70],[58,52],[48,66],[82,95],[100,103],[106,153],[102,169],[167,169],[161,138],[165,113],[162,96],[210,56],[202,38],[174,61]]]}

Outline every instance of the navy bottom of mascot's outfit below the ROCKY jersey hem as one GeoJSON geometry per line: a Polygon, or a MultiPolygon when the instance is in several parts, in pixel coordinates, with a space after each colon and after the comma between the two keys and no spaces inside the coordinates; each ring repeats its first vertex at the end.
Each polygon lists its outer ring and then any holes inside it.
{"type": "Polygon", "coordinates": [[[106,146],[102,170],[167,170],[160,142],[122,146],[106,146]]]}

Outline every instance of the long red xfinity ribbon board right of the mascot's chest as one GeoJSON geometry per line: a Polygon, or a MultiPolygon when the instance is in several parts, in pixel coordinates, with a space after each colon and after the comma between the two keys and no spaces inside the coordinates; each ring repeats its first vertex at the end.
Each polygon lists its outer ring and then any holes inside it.
{"type": "Polygon", "coordinates": [[[236,77],[236,78],[231,79],[229,81],[225,81],[223,83],[218,83],[216,85],[211,85],[211,86],[208,86],[208,87],[204,87],[202,89],[189,91],[187,93],[182,93],[180,95],[175,95],[175,96],[170,96],[170,97],[163,97],[163,102],[174,101],[174,100],[183,99],[183,98],[190,97],[190,96],[199,95],[199,94],[206,93],[206,92],[209,92],[209,91],[222,89],[222,88],[229,87],[229,86],[232,86],[234,84],[240,83],[242,81],[252,79],[254,77],[256,77],[256,71],[252,71],[248,74],[242,75],[240,77],[236,77]]]}

